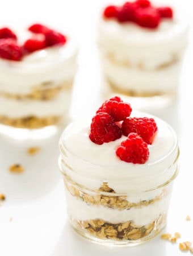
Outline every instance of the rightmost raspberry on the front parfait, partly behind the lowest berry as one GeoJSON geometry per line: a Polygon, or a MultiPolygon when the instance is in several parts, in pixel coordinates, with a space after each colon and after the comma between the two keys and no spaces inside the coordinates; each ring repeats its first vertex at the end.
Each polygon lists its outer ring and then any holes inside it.
{"type": "Polygon", "coordinates": [[[148,117],[129,117],[122,123],[122,133],[128,136],[130,133],[137,133],[148,144],[152,144],[157,125],[153,118],[148,117]]]}

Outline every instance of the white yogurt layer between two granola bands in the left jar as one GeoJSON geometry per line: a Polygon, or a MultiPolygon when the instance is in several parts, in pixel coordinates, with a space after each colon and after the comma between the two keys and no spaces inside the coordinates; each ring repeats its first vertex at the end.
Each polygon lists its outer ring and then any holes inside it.
{"type": "Polygon", "coordinates": [[[71,99],[70,90],[58,93],[53,100],[14,100],[0,97],[0,115],[9,118],[24,118],[29,116],[49,117],[68,114],[71,99]]]}

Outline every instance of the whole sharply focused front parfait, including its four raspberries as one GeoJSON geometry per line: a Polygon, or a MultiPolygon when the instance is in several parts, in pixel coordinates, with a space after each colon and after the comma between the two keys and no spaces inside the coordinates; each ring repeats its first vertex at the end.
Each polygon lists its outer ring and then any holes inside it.
{"type": "Polygon", "coordinates": [[[177,137],[167,123],[116,96],[91,122],[66,127],[60,152],[68,214],[79,234],[137,244],[161,232],[178,174],[177,137]]]}

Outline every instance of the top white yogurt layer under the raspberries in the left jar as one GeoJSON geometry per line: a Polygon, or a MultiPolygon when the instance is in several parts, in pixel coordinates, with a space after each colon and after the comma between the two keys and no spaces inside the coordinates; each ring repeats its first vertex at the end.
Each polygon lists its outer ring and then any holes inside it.
{"type": "Polygon", "coordinates": [[[47,82],[58,86],[72,80],[77,71],[77,47],[70,38],[64,46],[30,53],[22,61],[0,59],[0,92],[28,94],[47,82]]]}

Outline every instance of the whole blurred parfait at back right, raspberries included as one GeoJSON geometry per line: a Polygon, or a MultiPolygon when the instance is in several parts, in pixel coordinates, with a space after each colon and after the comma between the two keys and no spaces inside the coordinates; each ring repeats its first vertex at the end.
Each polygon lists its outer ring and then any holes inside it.
{"type": "Polygon", "coordinates": [[[169,6],[136,0],[104,8],[98,47],[105,95],[175,98],[187,32],[169,6]]]}

